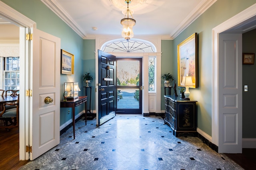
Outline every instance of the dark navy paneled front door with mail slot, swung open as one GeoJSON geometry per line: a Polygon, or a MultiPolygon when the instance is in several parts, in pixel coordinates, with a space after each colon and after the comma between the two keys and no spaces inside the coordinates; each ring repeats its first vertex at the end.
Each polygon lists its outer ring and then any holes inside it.
{"type": "Polygon", "coordinates": [[[98,122],[116,115],[116,56],[98,50],[98,122]]]}

